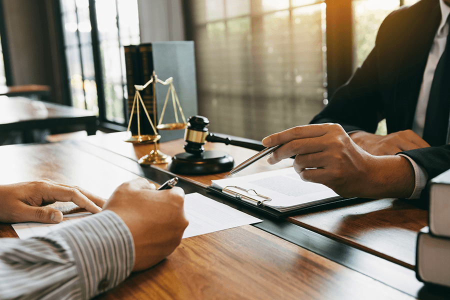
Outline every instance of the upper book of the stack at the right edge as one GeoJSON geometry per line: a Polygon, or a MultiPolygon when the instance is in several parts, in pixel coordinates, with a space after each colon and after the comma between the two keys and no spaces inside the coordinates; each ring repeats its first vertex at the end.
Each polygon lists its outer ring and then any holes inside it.
{"type": "MultiPolygon", "coordinates": [[[[450,237],[450,170],[434,177],[429,187],[429,230],[450,237]]],[[[450,272],[450,270],[449,270],[450,272]]]]}

